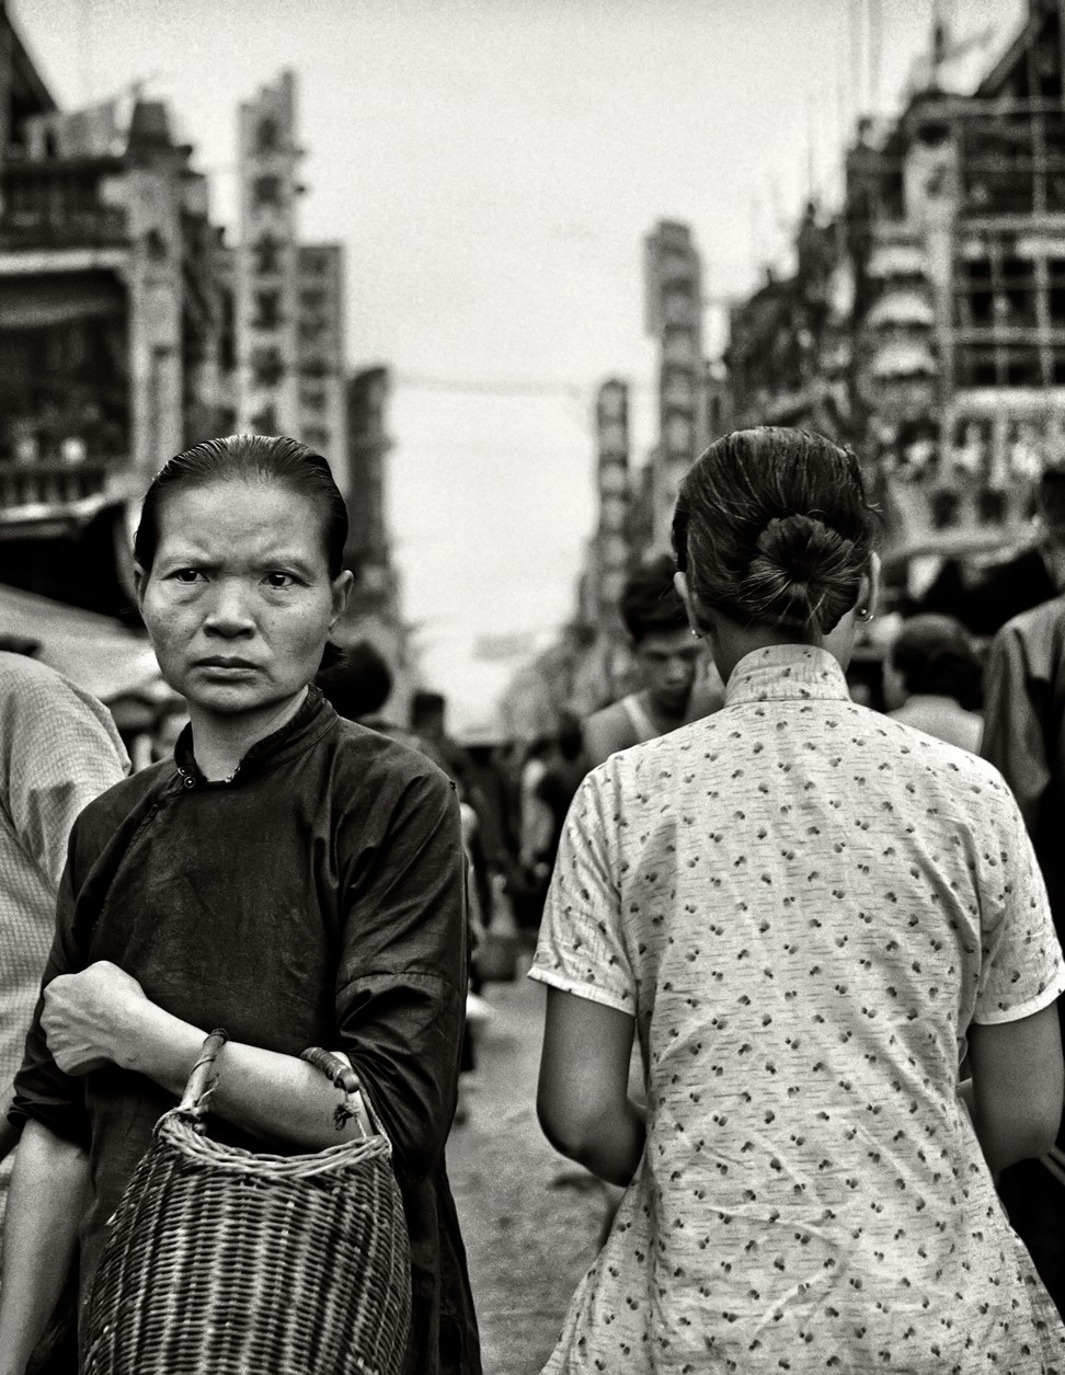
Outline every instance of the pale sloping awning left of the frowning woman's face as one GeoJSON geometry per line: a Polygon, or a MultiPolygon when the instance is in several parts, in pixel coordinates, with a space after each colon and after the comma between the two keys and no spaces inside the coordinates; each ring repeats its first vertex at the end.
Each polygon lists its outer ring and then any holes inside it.
{"type": "Polygon", "coordinates": [[[96,612],[0,586],[0,635],[38,646],[36,657],[80,688],[113,701],[155,696],[159,668],[147,637],[96,612]]]}

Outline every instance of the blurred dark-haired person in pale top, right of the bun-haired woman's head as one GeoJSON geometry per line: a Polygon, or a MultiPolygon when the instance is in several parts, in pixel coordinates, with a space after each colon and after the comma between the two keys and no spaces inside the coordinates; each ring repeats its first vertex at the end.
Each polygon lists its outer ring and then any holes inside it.
{"type": "Polygon", "coordinates": [[[954,616],[911,616],[888,656],[888,715],[937,740],[980,752],[981,667],[967,630],[954,616]]]}

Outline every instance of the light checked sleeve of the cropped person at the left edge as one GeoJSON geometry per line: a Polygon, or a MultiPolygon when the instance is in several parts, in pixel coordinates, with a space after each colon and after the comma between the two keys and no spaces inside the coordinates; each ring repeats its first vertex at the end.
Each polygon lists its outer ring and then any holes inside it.
{"type": "Polygon", "coordinates": [[[26,678],[4,703],[11,822],[52,888],[78,813],[129,771],[107,708],[60,674],[26,678]]]}

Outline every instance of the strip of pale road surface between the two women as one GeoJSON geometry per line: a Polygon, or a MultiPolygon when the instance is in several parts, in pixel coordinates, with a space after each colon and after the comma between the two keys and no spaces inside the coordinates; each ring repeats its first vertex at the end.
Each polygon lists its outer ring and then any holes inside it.
{"type": "Polygon", "coordinates": [[[485,1375],[536,1375],[595,1255],[606,1206],[536,1122],[544,990],[489,984],[470,1116],[448,1143],[481,1324],[485,1375]]]}

